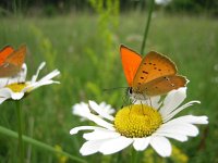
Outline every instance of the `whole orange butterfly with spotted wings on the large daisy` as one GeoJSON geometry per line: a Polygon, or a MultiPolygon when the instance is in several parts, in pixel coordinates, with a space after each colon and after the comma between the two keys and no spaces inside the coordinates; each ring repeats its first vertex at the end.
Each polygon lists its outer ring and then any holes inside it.
{"type": "Polygon", "coordinates": [[[123,45],[120,53],[129,93],[135,99],[165,95],[186,85],[186,78],[177,75],[174,63],[160,53],[150,51],[142,58],[123,45]]]}

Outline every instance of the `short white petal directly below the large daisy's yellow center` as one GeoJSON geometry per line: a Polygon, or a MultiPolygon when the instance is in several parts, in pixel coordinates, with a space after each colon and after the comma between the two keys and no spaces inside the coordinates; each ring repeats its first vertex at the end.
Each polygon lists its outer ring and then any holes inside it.
{"type": "Polygon", "coordinates": [[[143,150],[145,150],[148,147],[149,141],[150,141],[150,137],[134,138],[133,147],[137,151],[143,151],[143,150]]]}

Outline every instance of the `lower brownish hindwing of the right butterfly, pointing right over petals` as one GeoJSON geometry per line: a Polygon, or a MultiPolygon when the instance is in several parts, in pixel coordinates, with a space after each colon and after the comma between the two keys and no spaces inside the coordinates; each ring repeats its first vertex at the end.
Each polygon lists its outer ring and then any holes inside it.
{"type": "Polygon", "coordinates": [[[185,87],[186,78],[184,76],[171,75],[159,77],[142,86],[143,93],[148,97],[165,95],[173,89],[185,87]]]}

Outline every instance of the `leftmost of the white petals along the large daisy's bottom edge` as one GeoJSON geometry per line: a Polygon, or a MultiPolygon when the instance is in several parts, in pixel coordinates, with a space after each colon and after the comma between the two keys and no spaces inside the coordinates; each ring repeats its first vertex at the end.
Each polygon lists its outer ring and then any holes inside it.
{"type": "Polygon", "coordinates": [[[89,155],[96,153],[98,152],[98,149],[100,148],[101,143],[105,141],[106,140],[86,141],[80,149],[80,152],[82,155],[89,155]]]}

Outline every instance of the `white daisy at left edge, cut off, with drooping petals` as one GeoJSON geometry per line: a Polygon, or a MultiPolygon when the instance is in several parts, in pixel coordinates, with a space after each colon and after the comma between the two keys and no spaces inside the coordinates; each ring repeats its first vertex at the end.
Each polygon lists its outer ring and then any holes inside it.
{"type": "Polygon", "coordinates": [[[59,82],[52,80],[53,77],[60,74],[58,70],[55,70],[41,79],[36,80],[39,72],[44,68],[45,65],[45,62],[39,65],[36,74],[32,77],[32,80],[26,82],[26,64],[23,65],[22,71],[16,76],[0,78],[0,104],[8,99],[20,100],[24,97],[24,95],[40,86],[59,84],[59,82]]]}

